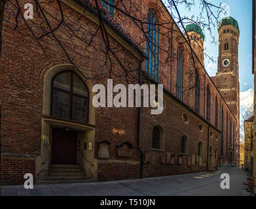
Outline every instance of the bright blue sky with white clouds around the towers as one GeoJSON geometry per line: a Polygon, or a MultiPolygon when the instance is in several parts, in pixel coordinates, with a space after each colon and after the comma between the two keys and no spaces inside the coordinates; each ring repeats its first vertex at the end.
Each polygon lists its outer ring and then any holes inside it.
{"type": "MultiPolygon", "coordinates": [[[[209,1],[209,0],[208,0],[209,1]]],[[[198,4],[199,1],[195,0],[195,3],[198,4]]],[[[240,115],[242,115],[247,108],[247,106],[253,103],[253,74],[251,73],[251,51],[252,51],[252,3],[251,0],[211,0],[211,3],[214,5],[225,5],[227,4],[226,12],[224,16],[232,16],[232,18],[238,21],[240,27],[240,39],[239,39],[239,76],[240,76],[240,115]]],[[[181,16],[197,16],[200,12],[199,5],[192,7],[192,10],[189,11],[183,6],[179,6],[179,12],[181,16]]],[[[218,31],[217,27],[213,28],[215,39],[218,40],[218,31]]],[[[216,63],[212,63],[209,59],[205,57],[204,65],[206,71],[210,76],[215,76],[217,71],[217,57],[219,56],[219,46],[212,43],[210,38],[210,32],[204,30],[205,39],[205,52],[209,56],[213,56],[213,59],[216,63]]]]}

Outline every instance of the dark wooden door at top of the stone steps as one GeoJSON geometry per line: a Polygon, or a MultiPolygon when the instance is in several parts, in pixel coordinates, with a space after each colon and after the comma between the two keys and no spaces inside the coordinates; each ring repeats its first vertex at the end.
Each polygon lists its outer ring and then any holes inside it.
{"type": "Polygon", "coordinates": [[[77,164],[77,132],[52,129],[52,163],[77,164]]]}

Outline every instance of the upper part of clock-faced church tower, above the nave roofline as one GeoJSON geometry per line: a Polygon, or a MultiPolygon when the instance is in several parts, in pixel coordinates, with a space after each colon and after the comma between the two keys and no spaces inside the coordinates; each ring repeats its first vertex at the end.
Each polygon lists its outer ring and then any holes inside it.
{"type": "Polygon", "coordinates": [[[219,57],[215,82],[230,110],[239,121],[238,44],[240,31],[238,22],[232,17],[223,18],[218,31],[219,57]]]}

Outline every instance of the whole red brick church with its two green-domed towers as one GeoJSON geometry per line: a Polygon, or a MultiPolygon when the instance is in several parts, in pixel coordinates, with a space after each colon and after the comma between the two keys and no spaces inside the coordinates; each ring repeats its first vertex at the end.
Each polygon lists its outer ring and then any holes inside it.
{"type": "MultiPolygon", "coordinates": [[[[14,17],[8,24],[4,21],[0,58],[2,184],[22,183],[27,172],[37,182],[118,180],[216,170],[219,164],[231,162],[238,165],[237,22],[228,18],[219,25],[218,71],[211,78],[204,69],[202,30],[187,25],[184,35],[162,1],[137,4],[143,5],[137,7],[139,18],[155,21],[161,16],[159,21],[169,22],[173,28],[166,31],[169,37],[161,36],[158,28],[149,32],[156,52],[149,50],[150,42],[141,42],[139,47],[134,44],[140,42],[141,32],[133,22],[117,15],[109,5],[103,4],[101,10],[108,11],[104,23],[111,44],[119,49],[120,57],[133,63],[129,67],[136,76],[129,82],[164,85],[160,115],[152,115],[150,108],[94,108],[92,88],[95,84],[107,88],[110,68],[104,65],[100,34],[94,37],[94,48],[84,48],[81,39],[70,38],[62,29],[56,31],[65,40],[67,52],[75,54],[77,68],[58,42],[44,37],[45,56],[36,40],[13,29],[14,17]],[[156,9],[159,16],[153,15],[156,9]],[[169,41],[168,53],[157,53],[169,41]],[[196,66],[193,74],[189,72],[193,69],[191,56],[196,66]]],[[[58,12],[57,5],[46,7],[52,14],[58,12]]],[[[88,7],[81,0],[64,0],[62,7],[70,25],[79,21],[84,33],[96,31],[98,17],[93,4],[88,7]]],[[[114,66],[114,71],[122,71],[114,66]]],[[[115,84],[127,86],[120,77],[113,78],[115,84]]]]}

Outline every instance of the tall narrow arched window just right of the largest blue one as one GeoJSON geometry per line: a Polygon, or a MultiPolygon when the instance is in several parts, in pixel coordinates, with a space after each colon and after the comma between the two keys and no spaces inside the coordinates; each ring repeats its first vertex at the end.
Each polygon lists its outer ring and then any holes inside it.
{"type": "Polygon", "coordinates": [[[177,48],[177,98],[183,101],[183,52],[179,46],[177,48]]]}

